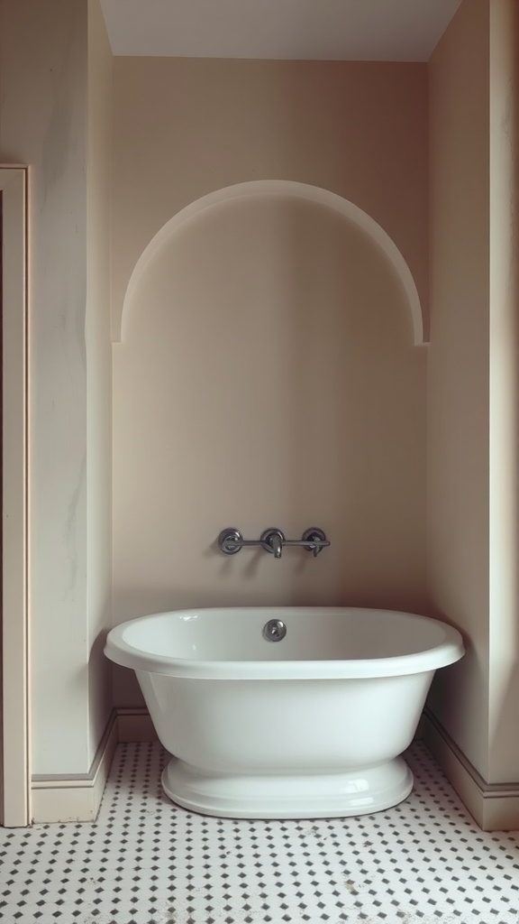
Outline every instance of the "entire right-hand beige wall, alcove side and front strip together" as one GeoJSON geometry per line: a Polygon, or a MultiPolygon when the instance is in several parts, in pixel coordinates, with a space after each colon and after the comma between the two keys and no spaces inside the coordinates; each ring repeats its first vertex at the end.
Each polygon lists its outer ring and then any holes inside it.
{"type": "Polygon", "coordinates": [[[514,6],[465,0],[429,63],[428,585],[467,641],[431,706],[490,783],[519,779],[514,6]]]}

